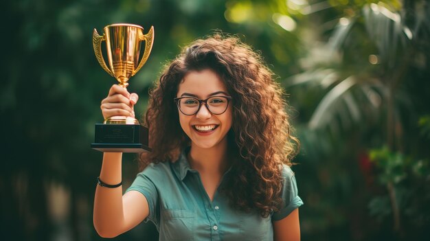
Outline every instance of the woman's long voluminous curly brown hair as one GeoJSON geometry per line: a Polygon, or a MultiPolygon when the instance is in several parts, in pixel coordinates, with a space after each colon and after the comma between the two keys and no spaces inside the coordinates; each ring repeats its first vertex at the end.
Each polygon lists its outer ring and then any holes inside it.
{"type": "Polygon", "coordinates": [[[203,69],[218,73],[232,97],[233,124],[227,139],[234,161],[221,192],[236,209],[258,210],[267,217],[280,208],[282,163],[291,165],[299,142],[291,135],[284,93],[273,72],[235,36],[214,34],[194,41],[166,65],[150,93],[145,121],[152,152],[140,155],[141,168],[176,160],[190,146],[173,98],[186,73],[203,69]]]}

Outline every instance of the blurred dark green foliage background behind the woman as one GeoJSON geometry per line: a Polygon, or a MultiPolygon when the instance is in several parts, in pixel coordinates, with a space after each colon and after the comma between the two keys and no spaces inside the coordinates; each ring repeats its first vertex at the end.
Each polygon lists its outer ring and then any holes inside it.
{"type": "MultiPolygon", "coordinates": [[[[101,240],[102,154],[89,148],[115,82],[93,28],[155,27],[131,80],[148,90],[180,47],[215,31],[260,51],[286,89],[303,240],[424,240],[430,227],[430,5],[413,0],[20,0],[3,3],[1,240],[101,240]],[[3,239],[4,238],[4,239],[3,239]]],[[[124,158],[124,186],[137,161],[124,158]]],[[[115,240],[157,240],[142,223],[115,240]]]]}

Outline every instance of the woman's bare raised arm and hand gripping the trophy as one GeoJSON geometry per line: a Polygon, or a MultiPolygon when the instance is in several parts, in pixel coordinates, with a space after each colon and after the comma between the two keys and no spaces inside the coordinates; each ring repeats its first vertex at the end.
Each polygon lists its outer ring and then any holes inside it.
{"type": "MultiPolygon", "coordinates": [[[[102,101],[103,117],[113,115],[129,115],[134,117],[133,105],[137,95],[130,94],[126,89],[113,85],[109,95],[102,101]]],[[[108,185],[122,182],[122,153],[105,152],[103,154],[100,181],[108,185]]],[[[149,214],[148,201],[136,191],[122,195],[119,187],[102,187],[95,189],[93,222],[95,230],[104,238],[115,236],[132,229],[142,222],[149,214]]]]}

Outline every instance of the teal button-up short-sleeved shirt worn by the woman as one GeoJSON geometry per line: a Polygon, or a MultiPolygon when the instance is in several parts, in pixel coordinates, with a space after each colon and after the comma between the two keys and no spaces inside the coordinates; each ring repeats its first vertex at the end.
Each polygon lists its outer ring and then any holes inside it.
{"type": "Polygon", "coordinates": [[[297,196],[294,174],[287,165],[282,175],[284,207],[268,218],[262,218],[257,211],[246,213],[232,208],[218,191],[211,202],[199,172],[190,168],[186,151],[173,163],[148,165],[126,192],[135,190],[146,197],[147,220],[154,222],[159,240],[273,240],[272,221],[285,218],[303,205],[297,196]]]}

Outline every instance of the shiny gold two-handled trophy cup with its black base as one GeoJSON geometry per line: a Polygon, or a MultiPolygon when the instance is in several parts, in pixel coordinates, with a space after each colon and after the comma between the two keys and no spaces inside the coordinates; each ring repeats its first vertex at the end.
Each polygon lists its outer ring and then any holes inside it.
{"type": "MultiPolygon", "coordinates": [[[[154,27],[147,34],[139,25],[117,23],[104,27],[104,34],[93,31],[95,58],[120,86],[126,88],[128,80],[134,76],[148,60],[154,41],[154,27]],[[102,56],[102,41],[106,41],[106,56],[109,67],[102,56]],[[140,47],[145,41],[142,59],[139,61],[140,47]]],[[[148,128],[141,126],[133,117],[113,116],[103,124],[95,124],[95,143],[91,148],[102,152],[144,152],[148,146],[148,128]]]]}

